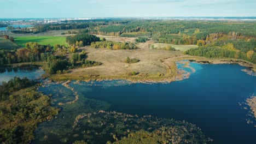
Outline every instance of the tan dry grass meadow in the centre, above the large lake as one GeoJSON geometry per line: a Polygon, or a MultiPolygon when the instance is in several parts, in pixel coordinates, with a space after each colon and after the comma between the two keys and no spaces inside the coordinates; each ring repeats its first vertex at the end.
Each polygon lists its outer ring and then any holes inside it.
{"type": "Polygon", "coordinates": [[[139,44],[141,49],[138,50],[107,50],[94,49],[91,47],[84,47],[82,49],[88,52],[88,59],[90,61],[102,62],[103,65],[90,68],[79,68],[72,71],[73,74],[87,74],[87,75],[125,75],[131,71],[139,72],[140,74],[155,75],[158,73],[166,74],[167,67],[160,59],[166,57],[181,56],[180,51],[166,51],[166,50],[150,50],[148,44],[139,44]],[[138,63],[127,64],[125,59],[127,57],[137,58],[138,63]]]}

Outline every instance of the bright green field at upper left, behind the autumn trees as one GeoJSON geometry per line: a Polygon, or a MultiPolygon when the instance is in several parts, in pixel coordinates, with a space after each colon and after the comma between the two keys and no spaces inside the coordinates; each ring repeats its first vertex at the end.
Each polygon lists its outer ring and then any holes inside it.
{"type": "Polygon", "coordinates": [[[24,47],[27,42],[36,42],[42,45],[50,44],[51,46],[55,44],[67,46],[65,37],[29,36],[29,37],[14,38],[14,40],[16,44],[22,47],[24,47]]]}

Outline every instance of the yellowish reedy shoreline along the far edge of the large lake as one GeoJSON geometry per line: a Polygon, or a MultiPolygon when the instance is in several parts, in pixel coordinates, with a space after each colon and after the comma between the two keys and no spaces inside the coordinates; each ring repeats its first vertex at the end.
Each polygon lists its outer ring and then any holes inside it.
{"type": "MultiPolygon", "coordinates": [[[[199,64],[238,64],[242,67],[246,67],[245,69],[249,68],[253,73],[256,73],[256,64],[253,64],[251,62],[247,62],[241,59],[209,59],[205,57],[194,57],[194,56],[180,56],[180,57],[171,57],[171,58],[165,58],[166,59],[172,59],[173,62],[178,61],[184,61],[187,60],[189,62],[196,62],[199,64]]],[[[167,65],[165,65],[167,67],[167,65]]],[[[188,67],[190,68],[190,67],[188,67]]],[[[167,67],[167,71],[171,70],[167,67]]],[[[244,71],[243,69],[241,69],[244,71]]],[[[193,73],[195,70],[193,70],[193,73]]],[[[245,73],[249,74],[248,71],[244,71],[245,73]]],[[[190,75],[190,74],[189,74],[190,75]]],[[[188,79],[189,75],[186,75],[183,77],[183,74],[178,73],[177,65],[176,65],[176,74],[174,75],[164,75],[164,76],[158,76],[158,75],[147,75],[147,74],[139,74],[136,76],[128,76],[128,75],[120,75],[120,76],[108,76],[108,75],[72,75],[71,73],[68,74],[55,74],[48,77],[48,79],[53,81],[68,81],[68,80],[74,80],[74,81],[110,81],[110,80],[127,80],[132,83],[170,83],[174,81],[181,81],[184,79],[188,79]]],[[[255,76],[255,74],[254,74],[255,76]]]]}

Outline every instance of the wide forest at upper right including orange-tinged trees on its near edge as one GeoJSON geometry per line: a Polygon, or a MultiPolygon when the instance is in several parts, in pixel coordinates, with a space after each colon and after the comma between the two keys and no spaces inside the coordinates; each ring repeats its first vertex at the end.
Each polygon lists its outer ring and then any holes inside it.
{"type": "MultiPolygon", "coordinates": [[[[154,41],[168,44],[197,44],[197,40],[214,43],[219,38],[244,39],[256,37],[255,22],[219,21],[144,21],[133,20],[124,23],[99,26],[93,34],[120,37],[151,37],[154,41]]],[[[90,29],[90,28],[89,28],[90,29]]]]}

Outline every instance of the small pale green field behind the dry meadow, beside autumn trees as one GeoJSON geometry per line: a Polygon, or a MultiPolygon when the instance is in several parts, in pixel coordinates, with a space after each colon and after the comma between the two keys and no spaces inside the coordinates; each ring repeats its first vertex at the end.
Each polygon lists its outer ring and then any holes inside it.
{"type": "Polygon", "coordinates": [[[180,50],[180,51],[187,51],[191,48],[198,47],[197,45],[173,45],[173,44],[161,44],[161,43],[155,43],[153,45],[155,49],[165,49],[166,46],[170,45],[174,47],[176,50],[180,50]]]}

